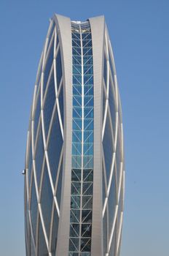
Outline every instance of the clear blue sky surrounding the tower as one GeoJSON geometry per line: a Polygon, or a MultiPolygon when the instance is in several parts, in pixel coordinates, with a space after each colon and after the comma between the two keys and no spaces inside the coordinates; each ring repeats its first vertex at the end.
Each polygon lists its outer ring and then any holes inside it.
{"type": "Polygon", "coordinates": [[[125,129],[121,256],[167,256],[168,0],[1,0],[0,255],[25,255],[21,171],[36,69],[54,12],[73,20],[106,17],[125,129]]]}

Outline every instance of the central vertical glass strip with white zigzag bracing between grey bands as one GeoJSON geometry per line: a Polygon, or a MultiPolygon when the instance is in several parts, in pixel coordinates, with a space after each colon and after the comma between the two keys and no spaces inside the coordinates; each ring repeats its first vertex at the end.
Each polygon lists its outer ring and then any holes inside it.
{"type": "Polygon", "coordinates": [[[90,256],[93,211],[93,50],[90,23],[71,23],[73,124],[69,255],[90,256]]]}

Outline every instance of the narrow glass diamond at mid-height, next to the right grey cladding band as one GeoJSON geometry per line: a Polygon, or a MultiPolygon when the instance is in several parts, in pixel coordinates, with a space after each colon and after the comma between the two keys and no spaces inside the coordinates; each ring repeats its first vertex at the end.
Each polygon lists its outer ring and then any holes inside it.
{"type": "Polygon", "coordinates": [[[109,181],[111,162],[112,162],[112,157],[114,152],[113,140],[111,136],[111,124],[110,124],[109,113],[107,114],[107,117],[106,117],[106,126],[105,126],[104,137],[103,137],[103,151],[104,151],[104,160],[106,165],[106,176],[107,176],[107,181],[109,181]]]}

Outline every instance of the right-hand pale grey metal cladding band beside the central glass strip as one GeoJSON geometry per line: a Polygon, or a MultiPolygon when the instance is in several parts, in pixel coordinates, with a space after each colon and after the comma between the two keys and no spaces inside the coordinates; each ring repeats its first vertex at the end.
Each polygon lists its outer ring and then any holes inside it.
{"type": "Polygon", "coordinates": [[[104,17],[90,18],[93,40],[94,74],[94,170],[93,170],[93,231],[91,255],[103,255],[102,227],[102,80],[104,17]]]}

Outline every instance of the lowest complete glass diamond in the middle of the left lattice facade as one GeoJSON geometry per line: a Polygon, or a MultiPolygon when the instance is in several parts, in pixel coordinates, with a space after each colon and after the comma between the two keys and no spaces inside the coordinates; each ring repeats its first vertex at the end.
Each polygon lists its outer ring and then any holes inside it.
{"type": "Polygon", "coordinates": [[[50,184],[50,178],[47,171],[47,164],[44,164],[44,176],[42,183],[42,195],[41,195],[41,206],[42,206],[42,215],[44,219],[44,226],[47,232],[48,239],[50,238],[50,221],[52,213],[52,202],[53,195],[50,184]]]}

